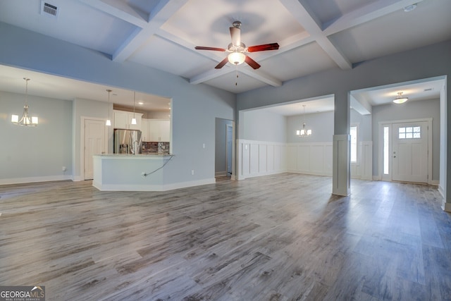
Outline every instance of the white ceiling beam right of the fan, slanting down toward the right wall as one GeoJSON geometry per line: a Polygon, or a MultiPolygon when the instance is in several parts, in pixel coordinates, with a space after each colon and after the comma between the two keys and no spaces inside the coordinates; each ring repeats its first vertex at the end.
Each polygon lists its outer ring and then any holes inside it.
{"type": "Polygon", "coordinates": [[[304,27],[307,32],[309,32],[312,39],[314,39],[319,46],[326,51],[326,54],[330,56],[330,59],[335,61],[335,63],[342,69],[351,69],[352,64],[348,59],[340,53],[340,51],[335,47],[332,42],[324,35],[321,29],[321,24],[319,20],[314,16],[313,13],[309,13],[308,8],[303,6],[299,0],[280,0],[280,3],[285,6],[285,8],[292,13],[297,22],[304,27]]]}

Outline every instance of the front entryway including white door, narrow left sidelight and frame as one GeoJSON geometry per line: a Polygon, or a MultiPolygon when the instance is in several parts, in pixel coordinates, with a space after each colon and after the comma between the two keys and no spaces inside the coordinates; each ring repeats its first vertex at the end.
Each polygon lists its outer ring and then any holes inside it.
{"type": "Polygon", "coordinates": [[[431,119],[381,124],[383,180],[430,183],[431,119]]]}

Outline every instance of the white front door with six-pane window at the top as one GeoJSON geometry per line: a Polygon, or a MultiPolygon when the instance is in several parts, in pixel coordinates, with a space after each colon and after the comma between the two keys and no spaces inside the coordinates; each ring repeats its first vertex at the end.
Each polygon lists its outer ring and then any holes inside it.
{"type": "Polygon", "coordinates": [[[428,122],[393,123],[392,179],[428,183],[428,122]]]}

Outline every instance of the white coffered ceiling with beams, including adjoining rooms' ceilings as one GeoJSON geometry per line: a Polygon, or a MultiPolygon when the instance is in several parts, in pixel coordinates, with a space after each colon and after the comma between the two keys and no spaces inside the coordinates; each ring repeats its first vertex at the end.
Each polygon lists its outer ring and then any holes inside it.
{"type": "MultiPolygon", "coordinates": [[[[40,0],[0,1],[0,22],[101,51],[117,63],[133,61],[180,75],[193,85],[204,83],[234,93],[266,85],[277,87],[292,78],[329,68],[349,69],[360,61],[451,39],[450,0],[46,2],[58,8],[56,18],[41,12],[40,0]],[[404,7],[413,3],[417,3],[416,9],[405,12],[404,7]],[[249,54],[261,64],[257,70],[246,64],[235,68],[230,63],[217,70],[214,66],[225,53],[194,49],[227,48],[228,27],[235,20],[242,22],[241,39],[247,46],[272,42],[280,45],[278,50],[249,54]]],[[[51,88],[54,98],[106,101],[105,90],[111,88],[117,90],[115,103],[130,104],[130,97],[121,97],[131,92],[116,87],[55,79],[51,75],[27,75],[31,72],[23,74],[23,70],[14,74],[3,68],[1,90],[23,92],[22,78],[27,76],[32,79],[30,93],[40,89],[44,94],[51,88]],[[80,85],[89,90],[80,89],[80,85]]],[[[381,90],[365,91],[362,98],[381,104],[378,92],[381,90]]],[[[413,94],[409,96],[414,98],[413,94]]],[[[302,110],[302,106],[297,107],[302,110]]]]}

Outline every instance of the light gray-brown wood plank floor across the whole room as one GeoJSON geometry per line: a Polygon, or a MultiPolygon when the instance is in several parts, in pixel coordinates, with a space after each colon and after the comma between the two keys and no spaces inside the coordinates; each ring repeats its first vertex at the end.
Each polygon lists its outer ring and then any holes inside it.
{"type": "Polygon", "coordinates": [[[170,192],[0,186],[0,285],[47,300],[450,300],[435,187],[284,173],[170,192]]]}

